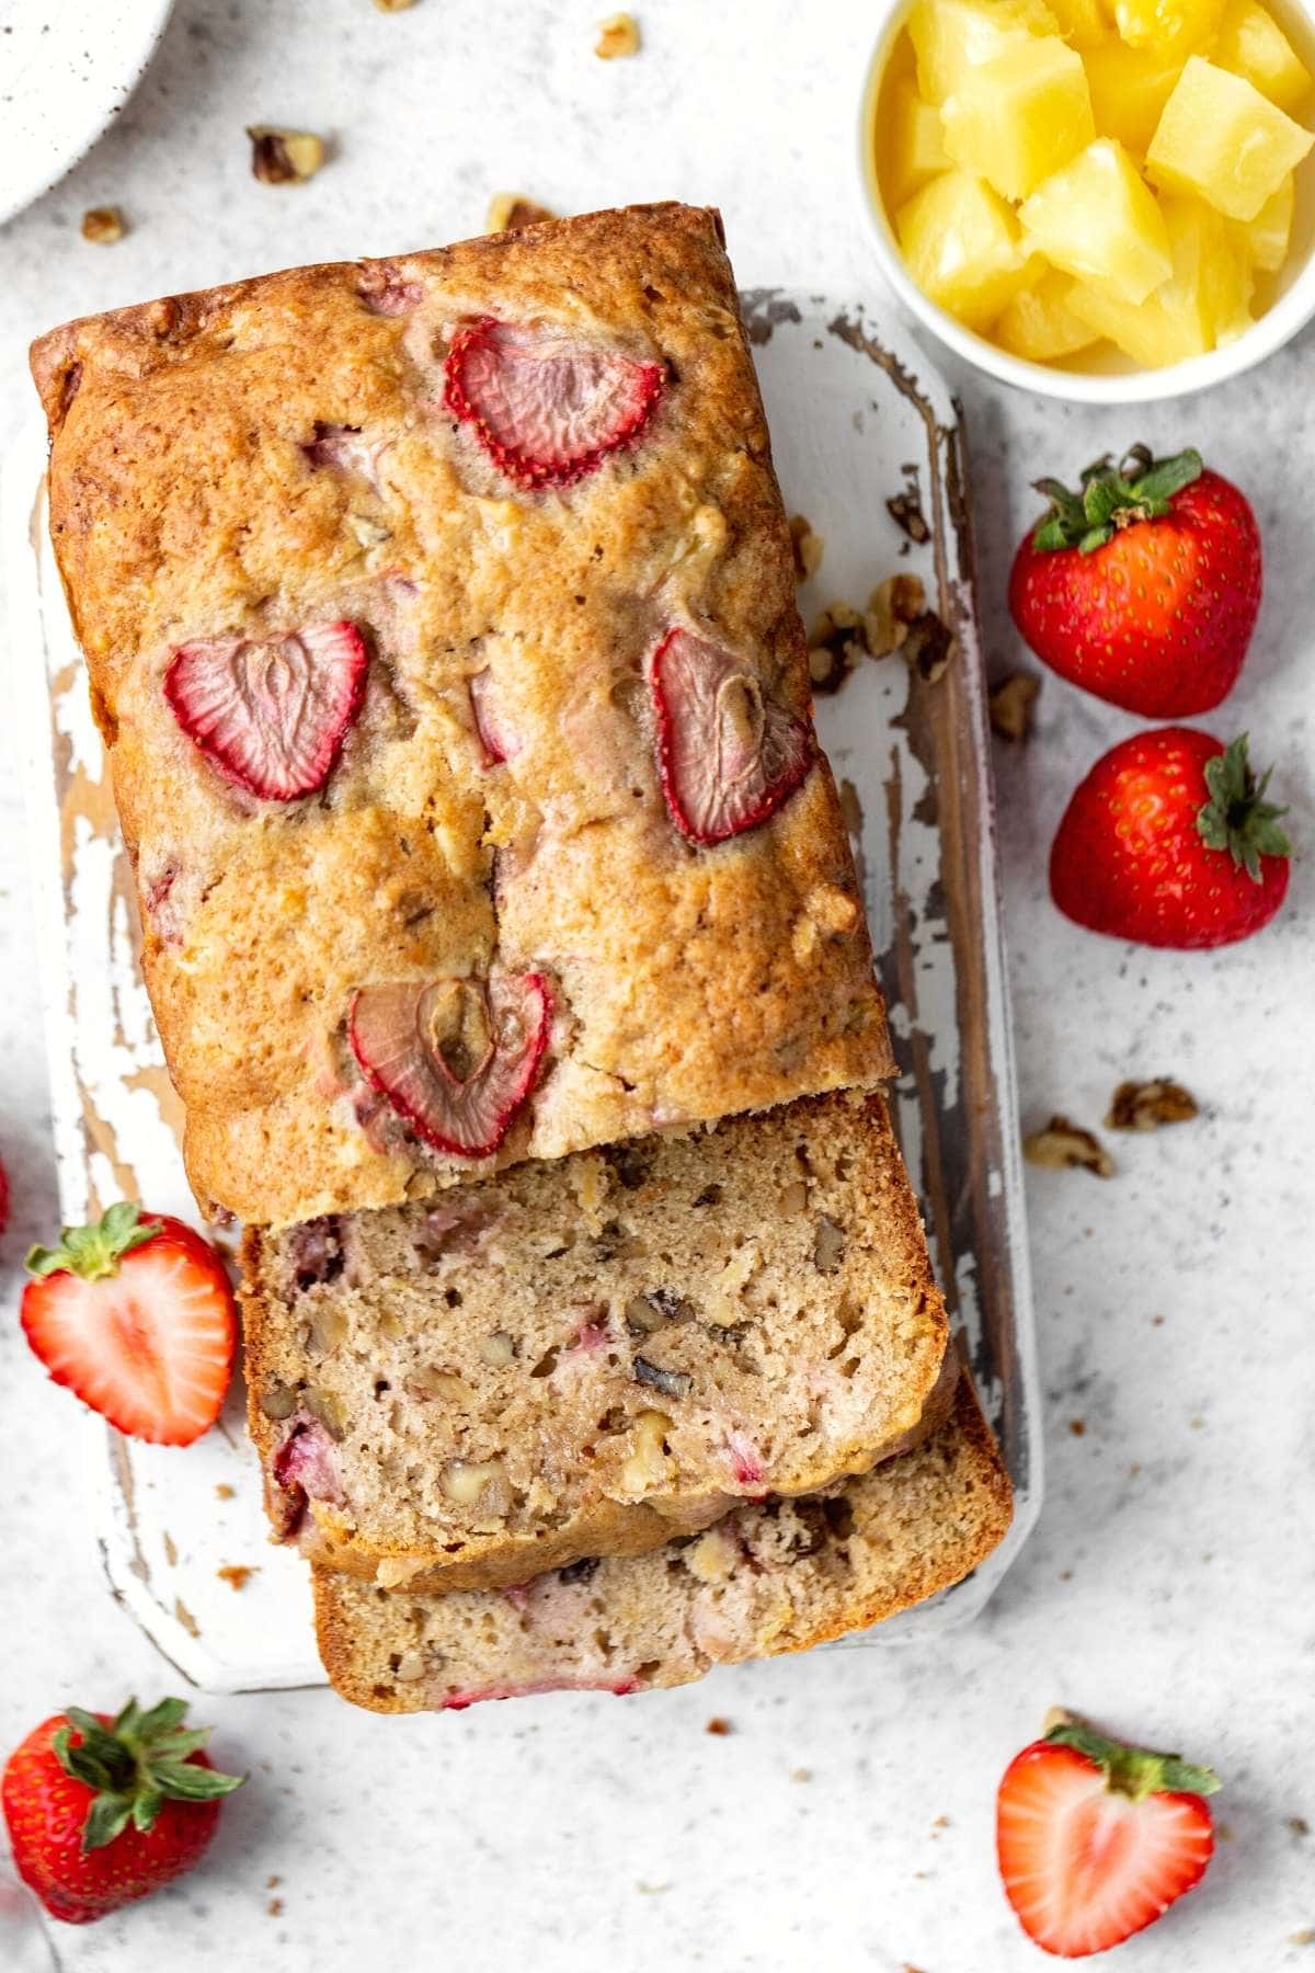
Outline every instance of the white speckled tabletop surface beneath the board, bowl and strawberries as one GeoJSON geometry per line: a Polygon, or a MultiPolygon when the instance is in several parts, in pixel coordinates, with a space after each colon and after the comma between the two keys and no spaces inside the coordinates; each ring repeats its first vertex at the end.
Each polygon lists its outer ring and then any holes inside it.
{"type": "MultiPolygon", "coordinates": [[[[485,197],[584,209],[716,199],[745,284],[836,292],[869,272],[852,185],[862,8],[759,0],[641,12],[645,53],[599,63],[580,0],[455,10],[420,0],[179,0],[114,134],[0,231],[0,440],[28,408],[28,337],[73,312],[270,264],[477,231],[485,197]],[[800,16],[808,16],[804,22],[800,16]],[[333,132],[304,189],[246,176],[242,124],[333,132]],[[77,239],[120,201],[114,249],[77,239]]],[[[1027,479],[1132,436],[1197,438],[1252,491],[1268,543],[1254,655],[1216,730],[1281,760],[1315,842],[1309,517],[1280,503],[1315,460],[1315,345],[1179,412],[1102,424],[970,389],[988,643],[1027,479]]],[[[1118,1148],[1120,1176],[1031,1174],[1049,1499],[984,1622],[934,1649],[832,1653],[722,1673],[643,1701],[544,1699],[418,1724],[329,1695],[223,1701],[217,1752],[252,1766],[209,1868],[85,1930],[20,1943],[0,1884],[0,1961],[290,1973],[384,1967],[625,1973],[877,1969],[1025,1973],[990,1807],[1007,1756],[1065,1699],[1212,1758],[1230,1831],[1205,1888],[1124,1947],[1128,1973],[1315,1967],[1313,862],[1285,917],[1220,957],[1143,955],[1067,927],[1045,850],[1069,787],[1130,722],[1047,681],[1025,756],[1002,750],[1025,1119],[1096,1123],[1124,1073],[1169,1071],[1207,1115],[1118,1148]],[[1084,1432],[1071,1430],[1080,1421],[1084,1432]],[[704,1736],[720,1713],[729,1738],[704,1736]],[[808,1780],[795,1780],[808,1770],[808,1780]],[[938,1825],[948,1817],[948,1825],[938,1825]],[[280,1882],[268,1886],[268,1878],[280,1882]],[[270,1900],[282,1910],[270,1916],[270,1900]],[[57,1953],[57,1959],[53,1957],[57,1953]]],[[[10,734],[0,726],[0,748],[10,734]]],[[[77,1498],[67,1399],[16,1336],[16,1257],[53,1211],[14,771],[0,766],[0,1144],[16,1219],[0,1259],[6,1638],[0,1742],[67,1699],[168,1683],[103,1596],[77,1498]]]]}

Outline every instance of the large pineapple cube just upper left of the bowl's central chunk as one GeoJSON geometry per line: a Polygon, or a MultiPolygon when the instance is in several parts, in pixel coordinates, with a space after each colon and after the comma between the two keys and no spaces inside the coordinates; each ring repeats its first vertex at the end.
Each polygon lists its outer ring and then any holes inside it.
{"type": "Polygon", "coordinates": [[[1055,34],[968,69],[940,120],[954,164],[1005,199],[1025,199],[1096,136],[1082,57],[1055,34]]]}

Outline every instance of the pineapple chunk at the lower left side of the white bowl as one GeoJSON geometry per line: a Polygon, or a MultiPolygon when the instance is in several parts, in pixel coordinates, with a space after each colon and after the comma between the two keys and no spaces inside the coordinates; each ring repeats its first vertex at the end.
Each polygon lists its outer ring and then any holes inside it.
{"type": "Polygon", "coordinates": [[[986,328],[1023,286],[1013,213],[972,172],[942,172],[895,215],[909,272],[923,294],[970,329],[986,328]]]}

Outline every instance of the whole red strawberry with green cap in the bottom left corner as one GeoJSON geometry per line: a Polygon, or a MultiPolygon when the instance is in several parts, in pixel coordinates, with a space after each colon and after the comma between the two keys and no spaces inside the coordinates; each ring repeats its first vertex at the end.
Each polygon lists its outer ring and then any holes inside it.
{"type": "Polygon", "coordinates": [[[187,1730],[181,1699],[110,1718],[69,1707],[14,1748],[0,1797],[14,1864],[51,1914],[71,1926],[116,1912],[181,1876],[219,1821],[219,1797],[242,1786],[217,1774],[187,1730]]]}

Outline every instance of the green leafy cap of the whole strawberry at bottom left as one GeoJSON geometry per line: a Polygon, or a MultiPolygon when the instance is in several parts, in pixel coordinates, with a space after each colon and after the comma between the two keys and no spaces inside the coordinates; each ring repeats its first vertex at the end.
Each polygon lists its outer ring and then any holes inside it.
{"type": "Polygon", "coordinates": [[[95,1713],[65,1707],[69,1724],[51,1734],[55,1760],[95,1791],[83,1823],[83,1853],[104,1849],[128,1821],[150,1831],[166,1801],[215,1801],[242,1786],[244,1774],[219,1774],[187,1758],[205,1746],[211,1728],[185,1728],[185,1699],[162,1699],[150,1713],[130,1699],[103,1726],[95,1713]]]}

